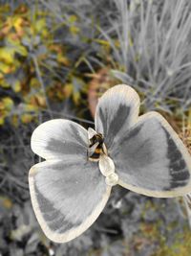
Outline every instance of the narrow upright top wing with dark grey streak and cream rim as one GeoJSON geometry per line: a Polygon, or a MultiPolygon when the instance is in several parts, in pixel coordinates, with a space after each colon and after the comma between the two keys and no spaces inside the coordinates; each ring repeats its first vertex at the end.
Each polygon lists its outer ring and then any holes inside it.
{"type": "Polygon", "coordinates": [[[107,149],[138,120],[138,93],[126,84],[118,84],[107,90],[96,106],[96,131],[104,136],[107,149]]]}

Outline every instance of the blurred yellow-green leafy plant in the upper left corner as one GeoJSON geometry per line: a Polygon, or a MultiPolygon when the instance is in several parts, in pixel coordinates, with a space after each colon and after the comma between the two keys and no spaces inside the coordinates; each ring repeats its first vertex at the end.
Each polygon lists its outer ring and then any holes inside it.
{"type": "Polygon", "coordinates": [[[69,16],[70,27],[58,28],[54,16],[38,6],[10,5],[0,8],[0,125],[9,118],[13,125],[30,123],[42,109],[51,110],[50,102],[71,98],[80,103],[84,82],[69,59],[69,44],[56,41],[58,29],[75,36],[77,17],[69,16]],[[8,107],[7,102],[11,101],[8,107]]]}

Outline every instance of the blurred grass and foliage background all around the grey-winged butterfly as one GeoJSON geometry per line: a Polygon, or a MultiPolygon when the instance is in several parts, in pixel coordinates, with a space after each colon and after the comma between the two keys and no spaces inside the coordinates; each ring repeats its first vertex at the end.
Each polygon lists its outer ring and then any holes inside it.
{"type": "Polygon", "coordinates": [[[67,118],[94,128],[98,97],[133,86],[191,152],[190,0],[0,0],[0,256],[190,256],[183,198],[115,187],[98,220],[53,244],[32,211],[32,130],[67,118]]]}

